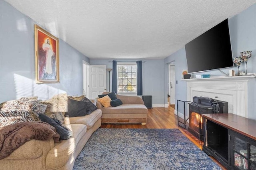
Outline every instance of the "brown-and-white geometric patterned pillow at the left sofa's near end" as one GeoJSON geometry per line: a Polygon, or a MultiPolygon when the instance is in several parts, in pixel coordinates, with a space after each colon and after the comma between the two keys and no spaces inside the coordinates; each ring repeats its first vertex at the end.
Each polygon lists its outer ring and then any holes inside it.
{"type": "Polygon", "coordinates": [[[37,100],[29,98],[20,98],[0,104],[0,127],[26,121],[40,121],[33,111],[37,105],[37,100]]]}

